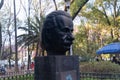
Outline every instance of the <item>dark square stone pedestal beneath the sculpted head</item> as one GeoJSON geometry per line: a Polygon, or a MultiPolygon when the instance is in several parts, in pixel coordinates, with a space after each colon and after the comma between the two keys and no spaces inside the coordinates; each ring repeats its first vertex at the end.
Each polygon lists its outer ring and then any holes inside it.
{"type": "Polygon", "coordinates": [[[80,80],[78,56],[35,58],[35,80],[80,80]]]}

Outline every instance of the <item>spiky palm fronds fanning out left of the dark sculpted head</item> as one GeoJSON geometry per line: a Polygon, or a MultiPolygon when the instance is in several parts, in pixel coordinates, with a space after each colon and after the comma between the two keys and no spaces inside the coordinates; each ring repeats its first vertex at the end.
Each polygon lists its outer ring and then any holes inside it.
{"type": "Polygon", "coordinates": [[[30,21],[29,27],[19,27],[18,29],[25,31],[26,33],[18,36],[18,44],[27,46],[32,45],[33,43],[38,43],[40,41],[43,20],[44,18],[41,18],[40,20],[38,17],[35,17],[35,21],[30,21]]]}

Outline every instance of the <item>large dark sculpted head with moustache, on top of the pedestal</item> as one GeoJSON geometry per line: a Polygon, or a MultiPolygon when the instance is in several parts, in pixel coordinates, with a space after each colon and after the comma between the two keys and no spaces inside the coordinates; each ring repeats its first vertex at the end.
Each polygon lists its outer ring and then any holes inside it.
{"type": "Polygon", "coordinates": [[[54,11],[47,15],[42,29],[42,45],[48,55],[65,55],[74,40],[73,22],[65,11],[54,11]]]}

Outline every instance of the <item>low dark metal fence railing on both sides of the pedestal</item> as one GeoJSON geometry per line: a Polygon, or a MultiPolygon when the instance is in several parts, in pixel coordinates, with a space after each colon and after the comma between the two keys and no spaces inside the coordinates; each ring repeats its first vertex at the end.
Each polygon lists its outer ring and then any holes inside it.
{"type": "MultiPolygon", "coordinates": [[[[0,80],[34,80],[34,73],[14,72],[0,76],[0,80]]],[[[120,73],[80,72],[80,80],[120,80],[120,73]]]]}

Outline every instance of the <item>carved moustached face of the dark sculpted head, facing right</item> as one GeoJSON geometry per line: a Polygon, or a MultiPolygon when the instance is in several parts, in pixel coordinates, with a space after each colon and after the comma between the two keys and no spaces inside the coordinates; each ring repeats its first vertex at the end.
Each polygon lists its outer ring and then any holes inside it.
{"type": "MultiPolygon", "coordinates": [[[[69,50],[70,45],[72,44],[74,37],[72,35],[73,32],[73,22],[72,19],[60,15],[57,16],[57,27],[55,28],[55,35],[53,38],[55,43],[57,44],[56,47],[58,50],[69,50]]],[[[54,35],[53,34],[53,35],[54,35]]]]}

